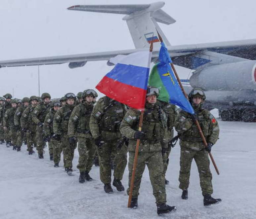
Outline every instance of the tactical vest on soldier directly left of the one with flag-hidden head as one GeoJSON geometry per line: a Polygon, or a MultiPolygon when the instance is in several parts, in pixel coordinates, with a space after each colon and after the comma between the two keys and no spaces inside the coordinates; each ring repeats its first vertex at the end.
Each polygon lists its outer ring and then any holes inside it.
{"type": "Polygon", "coordinates": [[[80,117],[76,128],[77,133],[90,133],[90,117],[93,110],[93,105],[85,105],[86,103],[80,103],[80,117]]]}

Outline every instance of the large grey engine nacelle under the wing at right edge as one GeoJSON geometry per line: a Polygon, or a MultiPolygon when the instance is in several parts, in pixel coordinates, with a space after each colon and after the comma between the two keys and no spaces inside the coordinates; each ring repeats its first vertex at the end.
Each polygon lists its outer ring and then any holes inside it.
{"type": "Polygon", "coordinates": [[[190,77],[193,88],[205,91],[256,90],[256,61],[241,61],[210,66],[190,77]]]}

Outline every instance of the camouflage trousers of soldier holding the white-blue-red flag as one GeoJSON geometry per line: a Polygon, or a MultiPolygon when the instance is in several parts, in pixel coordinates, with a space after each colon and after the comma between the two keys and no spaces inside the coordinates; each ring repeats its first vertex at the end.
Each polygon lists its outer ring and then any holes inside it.
{"type": "MultiPolygon", "coordinates": [[[[132,178],[133,162],[135,152],[129,152],[129,188],[127,194],[130,192],[130,183],[132,178]]],[[[132,197],[137,198],[139,196],[139,189],[141,185],[141,179],[146,165],[149,169],[149,179],[153,188],[153,195],[156,203],[166,202],[165,192],[165,179],[163,174],[163,160],[161,151],[141,153],[138,155],[138,163],[135,171],[134,187],[132,191],[132,197]]]]}

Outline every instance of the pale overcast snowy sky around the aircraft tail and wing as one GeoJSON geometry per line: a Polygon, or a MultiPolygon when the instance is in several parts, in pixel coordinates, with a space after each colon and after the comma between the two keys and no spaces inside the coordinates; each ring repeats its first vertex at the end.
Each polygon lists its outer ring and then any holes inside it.
{"type": "MultiPolygon", "coordinates": [[[[133,49],[124,15],[68,11],[81,4],[148,4],[146,0],[1,0],[0,60],[133,49]]],[[[172,45],[256,38],[255,0],[166,1],[162,8],[176,19],[160,27],[172,45]]],[[[82,68],[40,66],[40,87],[52,97],[94,88],[112,67],[106,61],[82,68]]],[[[1,68],[0,96],[38,95],[38,68],[1,68]]],[[[190,71],[178,68],[186,77],[190,71]]]]}

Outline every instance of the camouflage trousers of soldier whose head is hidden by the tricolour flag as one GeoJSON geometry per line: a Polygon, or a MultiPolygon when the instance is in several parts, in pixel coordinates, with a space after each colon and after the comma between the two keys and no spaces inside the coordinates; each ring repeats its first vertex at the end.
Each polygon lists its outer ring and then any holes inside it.
{"type": "Polygon", "coordinates": [[[100,178],[104,184],[111,183],[111,160],[114,163],[114,178],[122,180],[124,169],[127,164],[127,147],[116,148],[117,141],[105,141],[101,148],[98,148],[100,178]]]}

